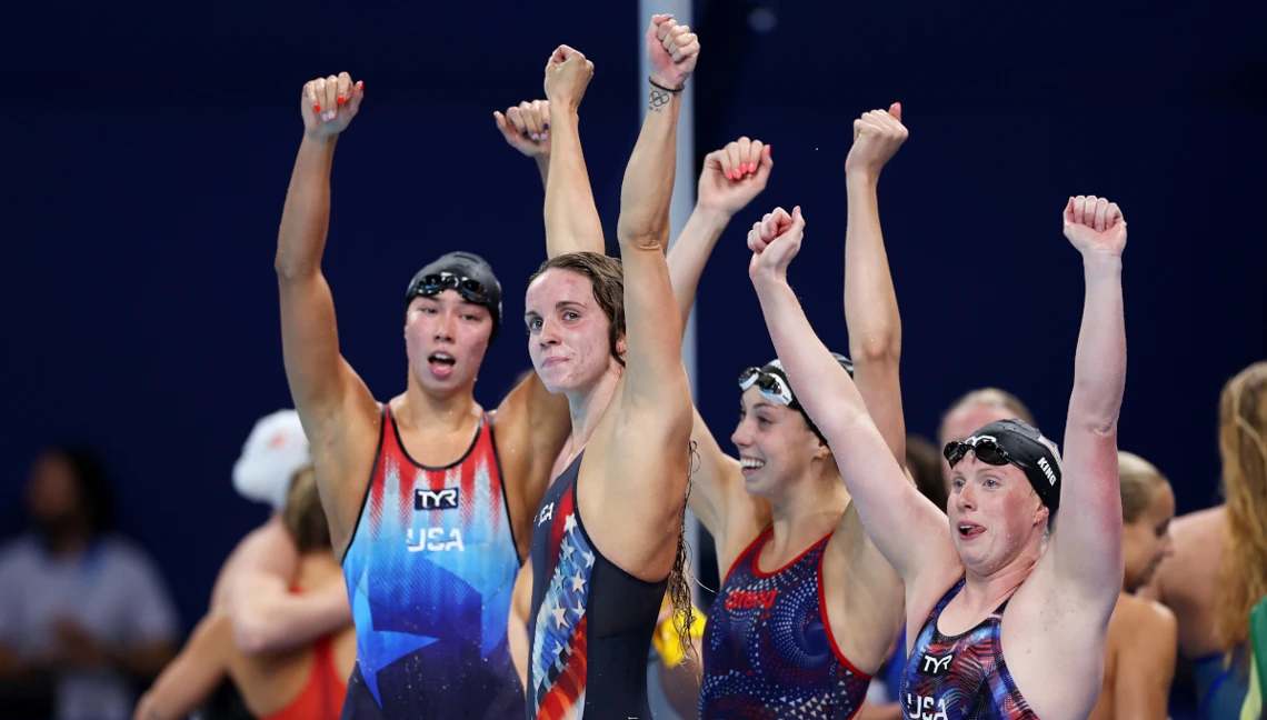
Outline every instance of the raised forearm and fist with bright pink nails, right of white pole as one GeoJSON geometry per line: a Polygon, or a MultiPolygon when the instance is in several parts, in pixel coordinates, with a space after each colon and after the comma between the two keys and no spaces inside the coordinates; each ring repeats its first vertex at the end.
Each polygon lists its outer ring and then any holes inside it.
{"type": "Polygon", "coordinates": [[[683,328],[691,317],[696,288],[713,246],[735,213],[761,194],[773,169],[770,146],[746,137],[704,156],[696,209],[682,228],[678,241],[669,248],[669,276],[682,312],[683,328]]]}

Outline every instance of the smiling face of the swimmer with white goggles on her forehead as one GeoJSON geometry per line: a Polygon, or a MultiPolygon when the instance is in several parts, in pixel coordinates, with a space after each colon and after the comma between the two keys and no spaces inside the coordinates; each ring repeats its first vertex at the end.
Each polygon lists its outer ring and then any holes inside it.
{"type": "Polygon", "coordinates": [[[740,397],[739,425],[730,440],[744,468],[744,489],[767,499],[810,472],[816,455],[827,454],[803,415],[770,402],[755,385],[740,397]]]}

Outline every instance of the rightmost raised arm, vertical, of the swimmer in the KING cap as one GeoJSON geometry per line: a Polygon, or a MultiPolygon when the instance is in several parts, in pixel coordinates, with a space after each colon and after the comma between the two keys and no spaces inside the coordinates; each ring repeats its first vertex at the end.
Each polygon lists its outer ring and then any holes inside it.
{"type": "Polygon", "coordinates": [[[1107,620],[1123,577],[1117,412],[1126,383],[1126,221],[1116,204],[1078,195],[1064,208],[1064,236],[1082,254],[1086,298],[1064,427],[1060,512],[1047,554],[1054,587],[1093,602],[1107,620]]]}

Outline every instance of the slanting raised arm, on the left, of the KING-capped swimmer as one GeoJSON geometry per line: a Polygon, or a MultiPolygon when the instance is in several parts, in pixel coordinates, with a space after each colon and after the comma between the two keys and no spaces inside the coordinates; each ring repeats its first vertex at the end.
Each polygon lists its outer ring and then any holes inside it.
{"type": "Polygon", "coordinates": [[[748,235],[749,276],[793,393],[826,437],[868,536],[910,586],[921,567],[955,554],[950,529],[906,482],[849,373],[815,335],[788,286],[787,266],[803,231],[801,208],[792,215],[779,208],[756,223],[748,235]]]}

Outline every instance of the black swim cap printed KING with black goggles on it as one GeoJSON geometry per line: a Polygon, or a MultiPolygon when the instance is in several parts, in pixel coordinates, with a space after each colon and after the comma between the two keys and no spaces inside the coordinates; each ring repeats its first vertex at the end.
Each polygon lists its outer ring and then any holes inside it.
{"type": "Polygon", "coordinates": [[[977,459],[993,465],[1012,464],[1020,468],[1043,505],[1055,515],[1060,508],[1060,456],[1052,442],[1036,427],[1024,420],[1000,420],[991,422],[972,434],[963,442],[948,442],[944,450],[946,461],[953,468],[968,450],[974,450],[977,459]],[[978,444],[984,442],[986,445],[978,444]],[[998,447],[996,453],[991,446],[998,447]]]}

